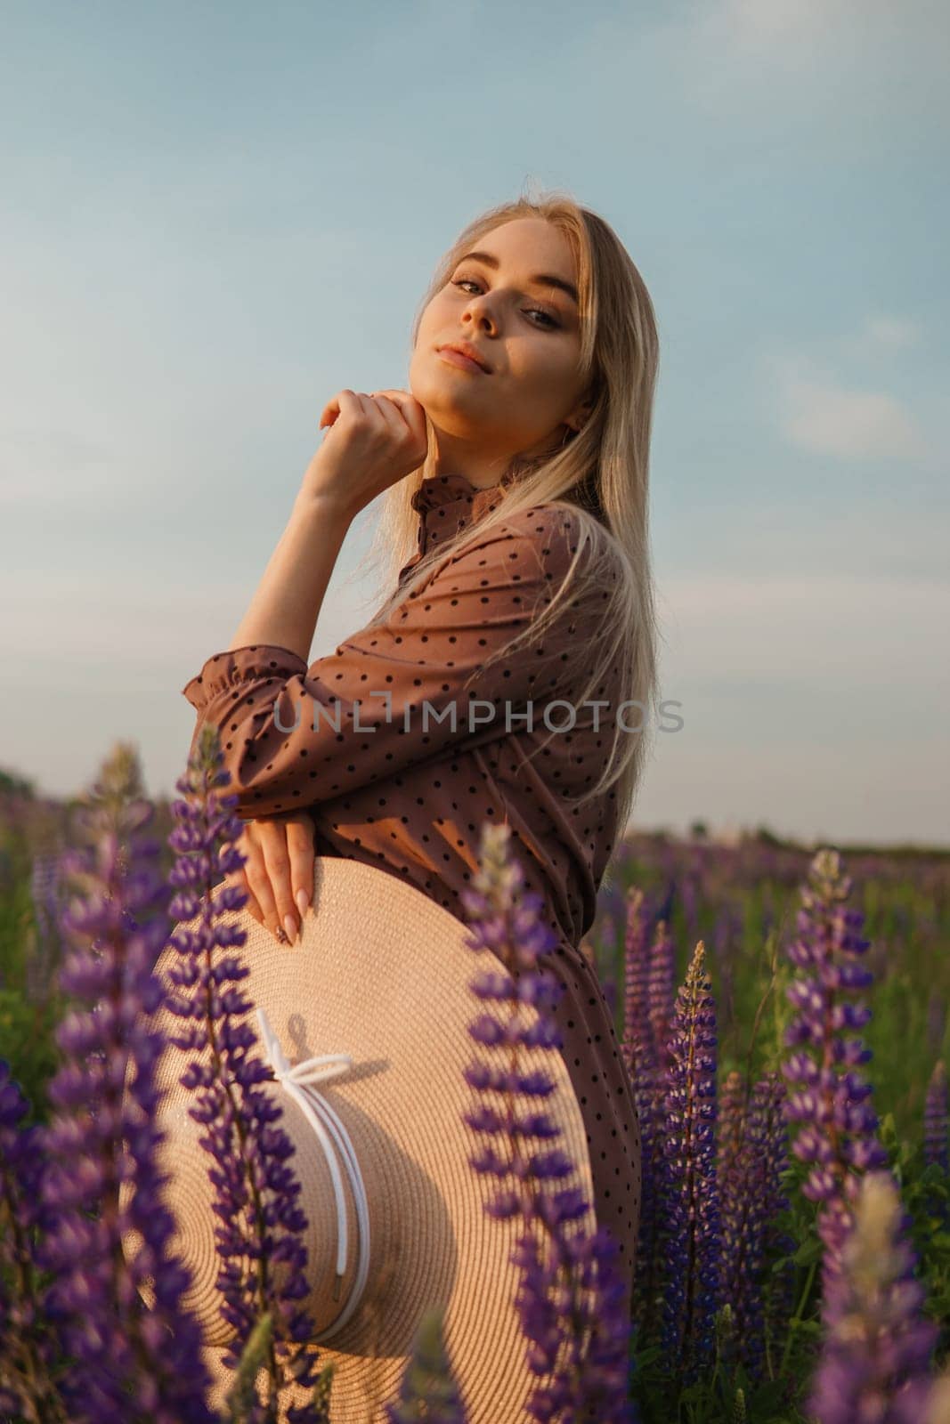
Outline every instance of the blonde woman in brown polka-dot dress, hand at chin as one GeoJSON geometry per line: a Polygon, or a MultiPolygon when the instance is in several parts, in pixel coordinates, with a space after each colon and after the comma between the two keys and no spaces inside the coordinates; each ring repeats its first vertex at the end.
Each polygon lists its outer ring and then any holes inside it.
{"type": "Polygon", "coordinates": [[[585,1114],[597,1220],[618,1242],[628,1293],[640,1128],[580,943],[655,693],[657,365],[649,295],[601,218],[561,197],[480,216],[416,318],[412,394],[329,402],[229,651],[184,688],[195,736],[205,722],[221,732],[245,822],[246,864],[229,879],[278,937],[298,933],[315,854],[400,876],[466,921],[480,827],[511,826],[557,936],[543,963],[565,987],[561,1054],[585,1114]],[[349,524],[383,493],[379,538],[397,587],[308,668],[349,524]]]}

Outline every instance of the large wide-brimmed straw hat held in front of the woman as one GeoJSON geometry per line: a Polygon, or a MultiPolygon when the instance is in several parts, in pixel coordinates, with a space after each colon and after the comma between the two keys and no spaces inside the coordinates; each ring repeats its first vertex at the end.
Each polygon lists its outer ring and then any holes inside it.
{"type": "MultiPolygon", "coordinates": [[[[520,1424],[543,1383],[526,1364],[528,1343],[514,1306],[521,1270],[510,1256],[524,1223],[486,1212],[497,1180],[476,1172],[469,1158],[487,1143],[506,1148],[461,1116],[481,1101],[463,1068],[473,1059],[508,1068],[511,1059],[510,1048],[487,1048],[469,1035],[467,1025],[481,1014],[499,1022],[510,1015],[508,1005],[479,1000],[469,985],[480,971],[510,977],[508,970],[489,950],[473,953],[467,926],[389,871],[318,856],[313,884],[313,913],[293,947],[278,946],[246,910],[224,918],[246,933],[238,953],[249,974],[239,988],[258,1011],[245,1015],[261,1040],[258,1057],[278,1071],[289,1061],[301,1079],[308,1077],[305,1059],[349,1058],[328,1065],[332,1081],[319,1089],[285,1078],[259,1085],[282,1106],[275,1126],[296,1149],[288,1166],[302,1183],[310,1284],[296,1304],[315,1321],[309,1349],[318,1368],[335,1366],[330,1418],[383,1424],[423,1313],[443,1306],[443,1340],[469,1424],[520,1424]]],[[[179,958],[167,946],[157,973],[179,958]]],[[[537,1020],[531,1005],[521,1004],[520,1014],[526,1024],[537,1020]]],[[[185,1021],[162,1004],[151,1024],[181,1034],[185,1021]]],[[[558,1146],[571,1158],[577,1169],[557,1189],[583,1192],[591,1203],[583,1225],[594,1230],[587,1132],[561,1054],[524,1047],[518,1054],[524,1072],[547,1072],[554,1081],[543,1106],[561,1129],[527,1149],[558,1146]]],[[[177,1220],[169,1245],[192,1274],[184,1304],[201,1323],[215,1381],[208,1403],[222,1408],[234,1378],[222,1354],[235,1331],[219,1313],[215,1287],[214,1163],[198,1142],[204,1128],[188,1114],[194,1095],[178,1082],[194,1058],[208,1062],[209,1055],[168,1044],[157,1065],[165,1134],[160,1169],[169,1176],[165,1200],[177,1220]]],[[[151,1303],[150,1283],[142,1294],[151,1303]]],[[[259,1387],[265,1378],[261,1371],[259,1387]]],[[[288,1404],[308,1397],[288,1386],[281,1420],[288,1404]]]]}

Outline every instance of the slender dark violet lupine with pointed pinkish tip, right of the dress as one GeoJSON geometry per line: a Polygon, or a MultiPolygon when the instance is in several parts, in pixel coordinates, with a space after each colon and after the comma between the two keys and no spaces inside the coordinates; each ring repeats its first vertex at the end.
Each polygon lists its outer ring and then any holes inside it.
{"type": "Polygon", "coordinates": [[[722,1306],[719,1189],[716,1182],[716,1014],[696,948],[677,995],[667,1071],[667,1153],[661,1218],[667,1242],[662,1346],[684,1383],[694,1383],[715,1351],[722,1306]]]}

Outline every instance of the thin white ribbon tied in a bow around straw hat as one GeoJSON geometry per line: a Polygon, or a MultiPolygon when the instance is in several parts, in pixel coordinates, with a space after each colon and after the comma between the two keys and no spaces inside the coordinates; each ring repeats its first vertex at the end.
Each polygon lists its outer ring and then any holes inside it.
{"type": "Polygon", "coordinates": [[[336,1148],[343,1158],[343,1166],[346,1168],[346,1175],[349,1176],[350,1189],[353,1192],[353,1200],[356,1203],[359,1262],[356,1276],[350,1287],[349,1300],[346,1302],[342,1314],[339,1314],[336,1320],[326,1327],[326,1330],[313,1336],[315,1340],[329,1340],[330,1336],[336,1334],[336,1331],[346,1324],[349,1317],[356,1310],[360,1296],[363,1294],[363,1287],[369,1274],[369,1202],[366,1199],[363,1173],[359,1169],[359,1161],[356,1158],[356,1152],[353,1151],[349,1134],[326,1098],[323,1098],[313,1085],[328,1078],[336,1078],[339,1074],[345,1072],[346,1068],[352,1067],[353,1058],[350,1054],[320,1054],[316,1058],[305,1058],[292,1068],[288,1062],[286,1054],[281,1048],[278,1035],[268,1022],[268,1015],[259,1007],[256,1014],[261,1024],[261,1034],[263,1037],[268,1062],[273,1069],[273,1077],[278,1082],[282,1082],[286,1091],[296,1099],[296,1102],[299,1102],[306,1121],[316,1132],[318,1141],[323,1148],[326,1165],[330,1169],[333,1196],[336,1198],[336,1280],[333,1284],[333,1300],[339,1300],[340,1280],[343,1279],[343,1272],[346,1270],[348,1235],[343,1179],[340,1176],[330,1136],[335,1139],[336,1148]],[[326,1126],[323,1124],[326,1124],[326,1126]]]}

